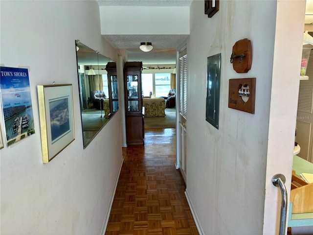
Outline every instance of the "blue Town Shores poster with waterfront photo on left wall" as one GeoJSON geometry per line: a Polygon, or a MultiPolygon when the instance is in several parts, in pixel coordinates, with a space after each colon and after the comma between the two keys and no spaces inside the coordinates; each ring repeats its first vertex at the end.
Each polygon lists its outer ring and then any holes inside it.
{"type": "Polygon", "coordinates": [[[28,70],[0,67],[0,93],[9,146],[35,133],[28,70]]]}

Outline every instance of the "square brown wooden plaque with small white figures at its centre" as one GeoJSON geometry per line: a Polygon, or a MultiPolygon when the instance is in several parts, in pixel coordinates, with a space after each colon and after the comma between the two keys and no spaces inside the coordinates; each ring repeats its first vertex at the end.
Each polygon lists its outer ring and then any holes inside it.
{"type": "Polygon", "coordinates": [[[228,108],[254,114],[255,77],[229,79],[228,108]]]}

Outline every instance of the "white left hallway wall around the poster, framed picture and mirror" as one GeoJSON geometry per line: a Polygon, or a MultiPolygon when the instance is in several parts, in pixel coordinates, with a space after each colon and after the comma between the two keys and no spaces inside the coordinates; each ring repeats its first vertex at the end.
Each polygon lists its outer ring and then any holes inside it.
{"type": "Polygon", "coordinates": [[[1,234],[99,235],[122,162],[120,112],[84,150],[75,54],[79,39],[117,60],[100,35],[99,6],[95,1],[0,4],[0,63],[29,67],[36,130],[0,150],[1,234]],[[37,85],[53,81],[73,84],[75,141],[43,164],[37,85]]]}

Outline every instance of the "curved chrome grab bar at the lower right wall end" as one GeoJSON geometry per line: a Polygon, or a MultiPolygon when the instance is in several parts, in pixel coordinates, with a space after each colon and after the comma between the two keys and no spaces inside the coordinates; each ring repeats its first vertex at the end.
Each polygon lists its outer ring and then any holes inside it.
{"type": "Polygon", "coordinates": [[[285,187],[286,178],[283,174],[274,175],[272,183],[274,186],[279,187],[282,193],[282,205],[280,208],[280,223],[279,223],[279,235],[285,235],[286,222],[287,222],[287,189],[285,187]]]}

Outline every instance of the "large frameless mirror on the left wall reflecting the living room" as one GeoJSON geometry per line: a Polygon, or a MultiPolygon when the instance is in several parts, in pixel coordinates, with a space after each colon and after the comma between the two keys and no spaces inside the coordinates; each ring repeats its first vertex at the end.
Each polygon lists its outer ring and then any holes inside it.
{"type": "MultiPolygon", "coordinates": [[[[118,110],[117,89],[112,95],[106,67],[110,59],[75,41],[84,148],[118,110]],[[114,100],[112,99],[114,97],[114,100]],[[111,104],[111,107],[110,107],[111,104]]],[[[115,64],[110,62],[109,64],[115,64]]],[[[116,70],[116,67],[115,67],[116,70]]],[[[117,80],[116,80],[117,82],[117,80]]],[[[117,87],[117,84],[115,84],[117,87]]]]}

